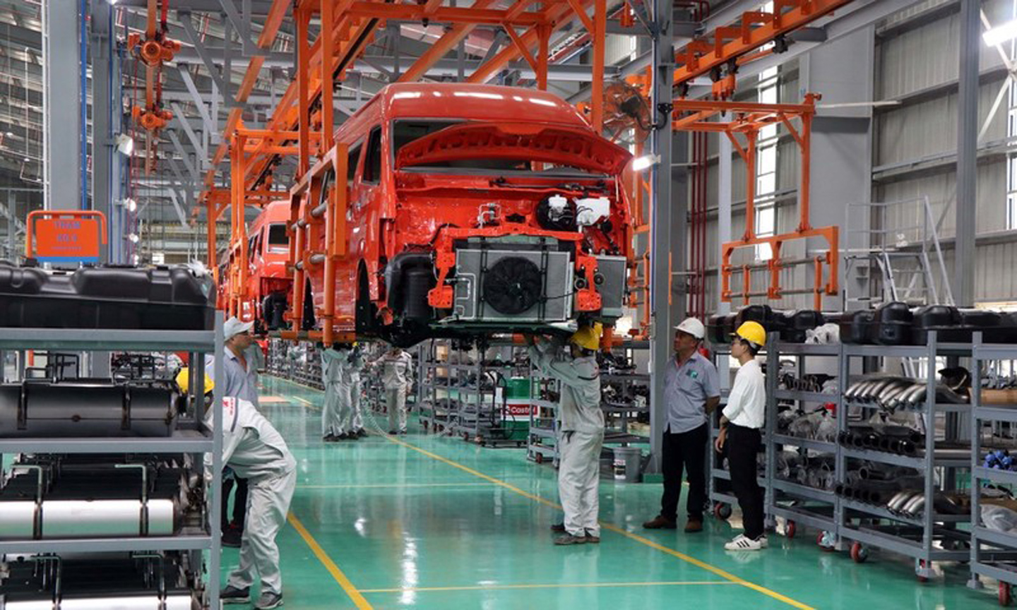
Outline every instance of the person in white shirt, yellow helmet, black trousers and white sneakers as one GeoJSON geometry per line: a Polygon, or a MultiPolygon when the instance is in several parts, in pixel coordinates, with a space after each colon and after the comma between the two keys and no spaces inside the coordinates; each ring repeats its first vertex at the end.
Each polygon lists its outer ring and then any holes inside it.
{"type": "Polygon", "coordinates": [[[731,356],[740,367],[734,376],[731,392],[720,418],[716,449],[727,444],[727,464],[731,490],[741,507],[744,532],[724,545],[729,551],[758,551],[768,546],[763,527],[763,490],[757,477],[759,452],[766,416],[766,380],[756,355],[766,345],[766,329],[759,322],[744,322],[734,332],[731,356]]]}

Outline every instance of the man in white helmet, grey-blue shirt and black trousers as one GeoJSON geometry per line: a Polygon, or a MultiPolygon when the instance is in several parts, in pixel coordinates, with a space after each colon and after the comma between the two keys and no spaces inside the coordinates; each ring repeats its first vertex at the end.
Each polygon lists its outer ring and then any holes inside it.
{"type": "Polygon", "coordinates": [[[706,336],[703,322],[685,318],[674,327],[674,358],[664,369],[664,435],[661,471],[664,494],[660,514],[643,524],[650,530],[677,527],[682,471],[689,473],[685,532],[703,531],[706,455],[710,439],[707,417],[720,404],[717,367],[700,353],[706,336]]]}

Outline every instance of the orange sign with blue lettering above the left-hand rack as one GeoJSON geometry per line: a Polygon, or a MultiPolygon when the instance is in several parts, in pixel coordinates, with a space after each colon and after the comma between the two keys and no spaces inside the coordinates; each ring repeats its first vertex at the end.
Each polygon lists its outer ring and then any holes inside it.
{"type": "Polygon", "coordinates": [[[106,217],[92,210],[36,210],[28,215],[24,255],[43,262],[98,262],[106,244],[106,217]]]}

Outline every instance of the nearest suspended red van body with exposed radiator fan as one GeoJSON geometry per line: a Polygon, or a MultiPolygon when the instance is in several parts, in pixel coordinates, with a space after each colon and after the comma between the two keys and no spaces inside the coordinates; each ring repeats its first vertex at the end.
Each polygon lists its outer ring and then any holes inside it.
{"type": "MultiPolygon", "coordinates": [[[[412,345],[622,315],[631,155],[564,101],[517,87],[393,84],[336,142],[347,150],[345,222],[332,221],[343,241],[336,332],[412,345]]],[[[307,190],[291,210],[291,221],[304,219],[292,261],[304,329],[320,327],[327,310],[324,223],[311,214],[337,182],[323,180],[317,200],[307,190]]]]}

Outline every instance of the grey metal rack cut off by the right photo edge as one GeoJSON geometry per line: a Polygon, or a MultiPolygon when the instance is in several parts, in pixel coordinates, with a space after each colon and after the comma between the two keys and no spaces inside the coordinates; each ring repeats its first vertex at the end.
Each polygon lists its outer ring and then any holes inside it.
{"type": "Polygon", "coordinates": [[[985,345],[981,332],[974,334],[971,347],[971,580],[968,586],[980,589],[978,576],[1000,582],[1000,601],[1010,599],[1010,588],[1017,585],[1017,534],[990,530],[981,522],[981,483],[1017,487],[1017,473],[983,468],[982,432],[986,423],[1017,424],[1017,405],[982,406],[982,365],[985,362],[1017,361],[1017,346],[985,345]]]}

